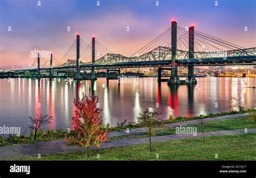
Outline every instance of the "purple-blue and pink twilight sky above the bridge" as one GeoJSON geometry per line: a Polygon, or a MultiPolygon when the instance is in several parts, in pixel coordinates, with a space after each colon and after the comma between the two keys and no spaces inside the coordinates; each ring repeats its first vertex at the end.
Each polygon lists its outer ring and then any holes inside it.
{"type": "Polygon", "coordinates": [[[212,0],[158,2],[99,0],[97,6],[94,0],[0,0],[0,69],[28,67],[34,49],[61,59],[76,33],[87,44],[95,36],[111,52],[130,56],[168,29],[171,19],[180,27],[193,24],[197,31],[256,47],[255,0],[219,0],[217,6],[212,0]]]}

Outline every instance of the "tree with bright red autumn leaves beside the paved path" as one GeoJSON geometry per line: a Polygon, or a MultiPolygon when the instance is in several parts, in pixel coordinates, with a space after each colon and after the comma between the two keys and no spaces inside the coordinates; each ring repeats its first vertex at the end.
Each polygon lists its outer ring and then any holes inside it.
{"type": "Polygon", "coordinates": [[[107,141],[107,129],[104,128],[102,117],[99,116],[102,109],[98,97],[83,93],[82,99],[74,99],[76,106],[75,116],[72,123],[75,128],[75,136],[66,137],[68,144],[72,143],[79,147],[87,147],[87,158],[89,158],[89,146],[100,146],[100,143],[107,141]]]}

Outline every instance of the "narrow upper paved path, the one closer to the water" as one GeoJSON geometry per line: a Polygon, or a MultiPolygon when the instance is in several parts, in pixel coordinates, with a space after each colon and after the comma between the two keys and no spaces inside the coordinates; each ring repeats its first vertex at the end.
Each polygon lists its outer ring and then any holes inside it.
{"type": "MultiPolygon", "coordinates": [[[[248,116],[248,115],[249,115],[248,113],[239,113],[239,114],[229,115],[229,116],[219,116],[219,117],[213,117],[213,118],[206,118],[206,119],[203,119],[203,122],[209,122],[209,121],[221,120],[221,119],[234,119],[234,118],[239,118],[239,117],[245,117],[245,116],[248,116]]],[[[180,126],[180,125],[198,124],[200,122],[201,122],[200,119],[188,120],[188,121],[179,122],[179,123],[165,124],[165,126],[167,126],[167,127],[177,127],[177,126],[180,126]]],[[[158,130],[158,129],[161,129],[161,128],[156,128],[156,130],[158,130]]],[[[142,127],[142,128],[137,128],[137,129],[130,129],[129,133],[127,133],[126,130],[117,131],[117,132],[110,132],[109,134],[107,134],[107,136],[108,137],[123,136],[123,135],[130,134],[130,133],[140,133],[140,132],[146,132],[146,131],[147,131],[147,128],[142,127]]]]}

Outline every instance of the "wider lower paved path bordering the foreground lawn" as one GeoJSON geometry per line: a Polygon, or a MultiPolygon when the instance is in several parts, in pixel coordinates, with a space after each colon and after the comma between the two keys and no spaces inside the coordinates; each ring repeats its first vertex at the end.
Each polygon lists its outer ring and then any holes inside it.
{"type": "MultiPolygon", "coordinates": [[[[248,129],[248,133],[256,133],[256,128],[248,129]]],[[[230,134],[245,134],[245,133],[244,133],[244,129],[205,132],[205,136],[223,136],[223,135],[230,135],[230,134]]],[[[192,138],[192,137],[202,137],[202,136],[203,136],[202,132],[197,133],[197,136],[193,136],[192,134],[169,134],[166,136],[152,137],[151,140],[152,142],[158,142],[158,141],[169,141],[169,140],[192,138]]],[[[137,145],[137,144],[146,144],[146,143],[149,143],[149,138],[115,140],[115,141],[104,142],[100,147],[90,147],[90,150],[137,145]]],[[[43,156],[48,154],[72,153],[72,152],[78,152],[78,151],[84,151],[84,150],[85,150],[84,148],[80,149],[77,146],[66,145],[65,140],[44,141],[36,144],[0,147],[0,160],[18,159],[18,158],[22,158],[23,156],[37,157],[38,153],[40,153],[41,156],[43,156]]]]}

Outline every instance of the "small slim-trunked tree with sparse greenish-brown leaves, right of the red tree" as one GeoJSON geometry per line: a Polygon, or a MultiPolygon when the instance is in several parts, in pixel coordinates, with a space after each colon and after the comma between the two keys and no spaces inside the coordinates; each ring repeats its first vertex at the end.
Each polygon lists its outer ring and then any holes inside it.
{"type": "Polygon", "coordinates": [[[154,127],[159,127],[160,122],[158,121],[158,116],[161,113],[159,112],[150,112],[149,108],[146,108],[143,113],[139,113],[139,116],[137,117],[137,124],[141,126],[147,127],[149,129],[149,138],[150,138],[150,151],[152,151],[151,148],[151,131],[154,130],[154,127]]]}

